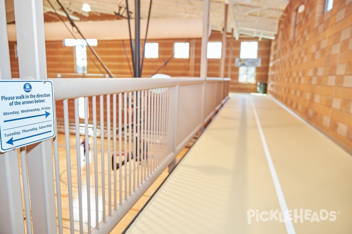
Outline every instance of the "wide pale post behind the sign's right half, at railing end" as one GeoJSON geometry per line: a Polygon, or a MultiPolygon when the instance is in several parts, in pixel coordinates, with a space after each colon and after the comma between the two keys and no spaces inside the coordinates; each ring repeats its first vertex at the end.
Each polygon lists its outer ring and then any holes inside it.
{"type": "MultiPolygon", "coordinates": [[[[14,0],[14,12],[20,79],[46,80],[43,1],[14,0]]],[[[26,152],[33,233],[57,233],[51,140],[26,152]]]]}

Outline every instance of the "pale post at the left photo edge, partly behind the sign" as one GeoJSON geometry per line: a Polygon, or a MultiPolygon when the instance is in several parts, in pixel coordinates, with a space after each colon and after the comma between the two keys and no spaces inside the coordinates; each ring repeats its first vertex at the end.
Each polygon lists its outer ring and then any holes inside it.
{"type": "MultiPolygon", "coordinates": [[[[0,0],[0,80],[11,79],[5,1],[0,0]]],[[[18,151],[0,153],[0,232],[24,234],[18,151]]]]}

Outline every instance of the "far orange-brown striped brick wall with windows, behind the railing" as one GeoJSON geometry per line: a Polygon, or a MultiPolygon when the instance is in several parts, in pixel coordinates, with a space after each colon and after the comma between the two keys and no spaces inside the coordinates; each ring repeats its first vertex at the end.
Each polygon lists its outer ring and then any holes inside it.
{"type": "MultiPolygon", "coordinates": [[[[213,31],[209,41],[221,41],[221,33],[213,31]]],[[[225,61],[225,76],[232,78],[230,83],[230,92],[256,92],[256,84],[246,84],[238,82],[238,67],[235,67],[235,58],[239,57],[241,41],[257,41],[258,38],[240,38],[236,41],[233,39],[232,46],[232,62],[231,74],[228,74],[228,61],[231,52],[231,38],[227,38],[226,46],[226,61],[225,61]]],[[[201,39],[200,38],[184,38],[184,39],[149,39],[148,42],[159,43],[159,58],[144,59],[143,76],[149,77],[157,71],[163,63],[172,57],[174,53],[174,42],[190,42],[190,56],[188,59],[171,60],[158,72],[171,76],[199,76],[200,75],[200,56],[201,56],[201,39]]],[[[131,62],[130,42],[124,40],[126,51],[131,62]]],[[[10,42],[10,61],[12,77],[17,78],[18,74],[18,59],[15,58],[16,42],[10,42]]],[[[269,55],[270,55],[271,40],[263,39],[258,41],[258,58],[262,58],[262,66],[257,68],[256,81],[267,82],[269,69],[269,55]]],[[[142,40],[143,46],[143,40],[142,40]]],[[[75,49],[74,47],[67,47],[63,45],[63,41],[46,41],[46,63],[48,70],[48,77],[56,78],[58,73],[65,77],[82,77],[82,75],[75,74],[75,49]],[[66,73],[66,74],[65,74],[66,73]]],[[[128,67],[125,49],[121,40],[100,40],[98,46],[94,47],[105,65],[117,77],[131,77],[130,69],[128,67]]],[[[87,48],[88,55],[93,58],[96,64],[99,64],[92,52],[87,48]]],[[[99,69],[94,65],[93,61],[87,58],[87,72],[90,74],[99,74],[99,69]]],[[[132,64],[131,64],[132,66],[132,64]]],[[[99,65],[100,69],[104,69],[99,65]]],[[[133,72],[133,68],[132,68],[133,72]]],[[[218,77],[220,75],[220,59],[208,59],[208,76],[218,77]]],[[[87,77],[96,77],[89,76],[87,77]]],[[[103,77],[103,76],[99,76],[103,77]]]]}

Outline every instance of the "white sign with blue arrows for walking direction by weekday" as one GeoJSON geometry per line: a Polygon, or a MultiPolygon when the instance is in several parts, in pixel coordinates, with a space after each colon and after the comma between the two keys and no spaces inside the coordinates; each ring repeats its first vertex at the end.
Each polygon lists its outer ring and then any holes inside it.
{"type": "Polygon", "coordinates": [[[0,152],[55,136],[50,80],[0,80],[0,152]]]}

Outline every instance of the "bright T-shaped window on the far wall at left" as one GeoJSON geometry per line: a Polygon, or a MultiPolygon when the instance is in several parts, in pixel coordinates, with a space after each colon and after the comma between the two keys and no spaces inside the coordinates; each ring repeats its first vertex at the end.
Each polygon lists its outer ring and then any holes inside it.
{"type": "MultiPolygon", "coordinates": [[[[87,39],[90,46],[98,45],[98,40],[87,39]]],[[[84,39],[65,39],[65,46],[75,46],[76,72],[87,73],[87,42],[84,39]]]]}

